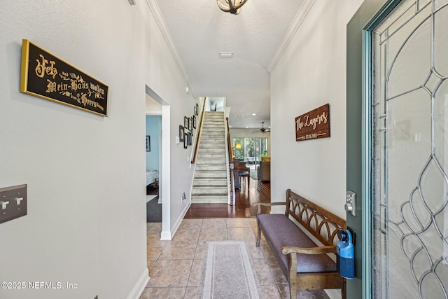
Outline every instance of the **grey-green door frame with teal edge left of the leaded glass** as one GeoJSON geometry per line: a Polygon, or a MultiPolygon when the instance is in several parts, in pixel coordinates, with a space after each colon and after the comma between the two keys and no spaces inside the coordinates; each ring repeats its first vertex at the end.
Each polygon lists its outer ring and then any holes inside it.
{"type": "Polygon", "coordinates": [[[401,0],[365,0],[346,27],[346,190],[358,194],[356,215],[346,214],[357,232],[355,279],[347,298],[372,298],[370,172],[370,30],[401,0]]]}

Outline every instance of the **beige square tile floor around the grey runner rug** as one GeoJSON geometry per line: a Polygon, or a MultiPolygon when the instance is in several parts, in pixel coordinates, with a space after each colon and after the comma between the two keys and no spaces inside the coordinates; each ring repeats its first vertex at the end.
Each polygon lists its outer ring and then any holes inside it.
{"type": "MultiPolygon", "coordinates": [[[[162,223],[147,223],[148,270],[151,277],[140,299],[199,298],[205,243],[246,240],[265,299],[289,298],[283,276],[269,246],[255,246],[255,218],[183,219],[172,241],[160,241],[162,223]]],[[[297,298],[328,299],[323,291],[299,291],[297,298]]],[[[237,298],[232,298],[237,299],[237,298]]]]}

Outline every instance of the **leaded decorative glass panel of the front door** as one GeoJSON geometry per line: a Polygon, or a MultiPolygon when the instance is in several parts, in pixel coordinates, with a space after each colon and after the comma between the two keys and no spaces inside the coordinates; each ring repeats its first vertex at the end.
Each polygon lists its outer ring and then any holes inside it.
{"type": "Polygon", "coordinates": [[[372,293],[448,299],[448,1],[372,30],[372,293]]]}

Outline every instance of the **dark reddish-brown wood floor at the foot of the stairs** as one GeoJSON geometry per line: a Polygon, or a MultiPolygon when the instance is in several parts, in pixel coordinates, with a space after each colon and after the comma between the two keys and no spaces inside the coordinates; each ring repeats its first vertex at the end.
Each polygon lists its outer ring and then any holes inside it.
{"type": "MultiPolygon", "coordinates": [[[[235,204],[191,204],[184,218],[247,218],[257,216],[255,202],[271,202],[271,184],[251,179],[250,188],[235,190],[235,204]]],[[[269,213],[269,207],[262,208],[269,213]]]]}

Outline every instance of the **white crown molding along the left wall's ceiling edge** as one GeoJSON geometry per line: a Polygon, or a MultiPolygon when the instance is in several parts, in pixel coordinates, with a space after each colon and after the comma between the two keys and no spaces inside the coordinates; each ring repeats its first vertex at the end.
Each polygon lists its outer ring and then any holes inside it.
{"type": "Polygon", "coordinates": [[[179,53],[177,52],[176,46],[174,45],[174,41],[172,39],[171,34],[169,33],[167,23],[165,22],[165,18],[163,18],[162,12],[160,11],[160,8],[155,0],[146,0],[146,4],[148,4],[149,10],[151,13],[153,13],[153,16],[155,18],[155,22],[157,22],[160,32],[162,32],[162,35],[167,42],[168,48],[171,51],[174,60],[176,60],[176,63],[179,67],[179,70],[182,73],[183,78],[186,81],[186,84],[188,86],[189,92],[193,97],[196,99],[196,93],[195,90],[191,87],[190,79],[188,78],[187,72],[185,70],[185,67],[183,67],[183,63],[181,60],[181,57],[179,56],[179,53]]]}

